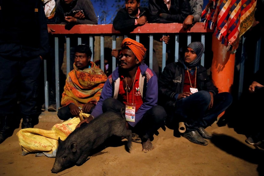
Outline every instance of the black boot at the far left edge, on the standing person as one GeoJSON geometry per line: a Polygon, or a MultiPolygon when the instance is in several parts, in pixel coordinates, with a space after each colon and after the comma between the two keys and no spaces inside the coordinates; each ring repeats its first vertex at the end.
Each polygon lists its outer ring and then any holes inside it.
{"type": "Polygon", "coordinates": [[[8,117],[7,115],[5,116],[0,116],[0,144],[2,142],[4,142],[6,140],[6,138],[10,137],[13,135],[14,129],[9,126],[10,123],[8,123],[8,121],[10,119],[8,119],[10,117],[8,117]]]}

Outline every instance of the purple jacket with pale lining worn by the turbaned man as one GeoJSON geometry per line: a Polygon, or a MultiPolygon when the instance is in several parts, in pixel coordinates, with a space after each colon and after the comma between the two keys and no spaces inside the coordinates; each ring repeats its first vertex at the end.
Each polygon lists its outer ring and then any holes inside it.
{"type": "MultiPolygon", "coordinates": [[[[156,106],[158,102],[157,75],[145,64],[141,64],[139,68],[141,70],[141,76],[139,78],[139,91],[142,96],[143,104],[136,112],[136,121],[128,122],[133,127],[141,120],[146,111],[153,106],[156,106]]],[[[100,99],[96,107],[93,109],[91,115],[96,118],[103,113],[102,105],[105,99],[110,97],[117,99],[119,83],[120,78],[117,67],[105,82],[100,99]]]]}

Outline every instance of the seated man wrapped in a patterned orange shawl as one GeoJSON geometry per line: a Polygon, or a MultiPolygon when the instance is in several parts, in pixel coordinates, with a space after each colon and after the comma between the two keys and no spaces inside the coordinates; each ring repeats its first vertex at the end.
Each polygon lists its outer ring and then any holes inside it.
{"type": "Polygon", "coordinates": [[[74,69],[66,78],[62,93],[62,108],[58,110],[61,120],[79,115],[80,110],[91,114],[98,102],[107,76],[91,62],[92,51],[87,45],[78,45],[74,56],[74,69]]]}

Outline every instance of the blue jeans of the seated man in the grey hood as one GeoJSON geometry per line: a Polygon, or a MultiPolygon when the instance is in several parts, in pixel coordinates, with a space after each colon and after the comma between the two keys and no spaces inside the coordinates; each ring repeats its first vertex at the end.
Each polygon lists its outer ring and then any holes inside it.
{"type": "Polygon", "coordinates": [[[230,93],[218,93],[214,96],[213,107],[208,109],[211,96],[207,91],[199,91],[176,101],[174,118],[177,118],[178,122],[184,122],[187,132],[199,127],[206,128],[212,125],[218,115],[231,105],[232,100],[230,93]]]}

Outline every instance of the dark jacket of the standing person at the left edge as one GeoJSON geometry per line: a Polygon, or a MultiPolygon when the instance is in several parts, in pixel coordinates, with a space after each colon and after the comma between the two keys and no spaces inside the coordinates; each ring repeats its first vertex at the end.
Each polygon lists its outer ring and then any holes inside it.
{"type": "Polygon", "coordinates": [[[0,55],[32,58],[49,50],[41,0],[0,0],[0,55]]]}

